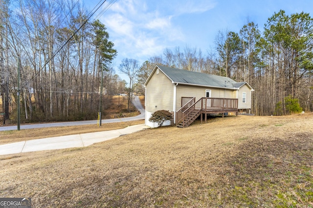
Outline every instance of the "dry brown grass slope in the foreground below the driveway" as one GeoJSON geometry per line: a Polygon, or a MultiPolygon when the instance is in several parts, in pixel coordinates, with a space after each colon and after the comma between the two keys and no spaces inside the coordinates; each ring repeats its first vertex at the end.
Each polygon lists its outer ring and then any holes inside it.
{"type": "Polygon", "coordinates": [[[87,148],[0,156],[34,207],[313,207],[313,113],[229,116],[87,148]]]}

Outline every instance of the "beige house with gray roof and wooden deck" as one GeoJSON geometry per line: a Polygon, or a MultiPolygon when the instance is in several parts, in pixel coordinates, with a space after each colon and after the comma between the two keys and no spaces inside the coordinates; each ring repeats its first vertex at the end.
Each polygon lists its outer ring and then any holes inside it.
{"type": "Polygon", "coordinates": [[[157,127],[149,121],[152,113],[167,110],[174,114],[174,122],[186,127],[197,117],[213,113],[250,112],[251,92],[247,82],[228,77],[208,75],[156,65],[145,84],[145,125],[157,127]]]}

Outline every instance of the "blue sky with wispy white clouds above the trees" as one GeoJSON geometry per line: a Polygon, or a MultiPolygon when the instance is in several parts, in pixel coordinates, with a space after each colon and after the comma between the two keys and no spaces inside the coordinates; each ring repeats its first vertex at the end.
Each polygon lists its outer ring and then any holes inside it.
{"type": "MultiPolygon", "coordinates": [[[[91,10],[99,1],[84,3],[91,10]]],[[[268,18],[280,10],[313,17],[313,0],[116,0],[98,19],[117,50],[113,68],[127,81],[118,69],[123,58],[136,59],[141,66],[175,47],[201,49],[205,55],[214,49],[219,31],[239,33],[249,20],[262,32],[268,18]]]]}

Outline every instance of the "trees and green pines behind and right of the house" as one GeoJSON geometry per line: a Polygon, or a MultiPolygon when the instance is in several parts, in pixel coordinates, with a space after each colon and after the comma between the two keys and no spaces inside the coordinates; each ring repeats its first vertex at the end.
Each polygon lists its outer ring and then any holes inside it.
{"type": "Polygon", "coordinates": [[[190,47],[165,49],[142,64],[139,83],[144,83],[155,64],[248,82],[255,90],[252,112],[256,115],[291,113],[290,99],[305,111],[313,110],[313,19],[308,13],[274,13],[262,33],[249,20],[239,33],[221,30],[215,47],[206,54],[190,47]]]}

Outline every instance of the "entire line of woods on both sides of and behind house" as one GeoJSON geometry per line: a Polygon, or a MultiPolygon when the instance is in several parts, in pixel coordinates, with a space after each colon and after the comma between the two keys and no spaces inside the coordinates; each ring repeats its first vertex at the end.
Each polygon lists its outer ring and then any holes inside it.
{"type": "MultiPolygon", "coordinates": [[[[79,1],[0,0],[0,87],[5,119],[14,119],[19,95],[25,120],[94,119],[112,95],[128,90],[144,94],[143,83],[156,64],[247,81],[252,113],[289,113],[286,102],[313,106],[313,19],[307,13],[268,18],[263,32],[247,20],[239,33],[221,30],[215,47],[166,48],[141,66],[125,58],[115,74],[117,51],[106,27],[90,19],[79,1]],[[18,71],[20,87],[18,87],[18,71]],[[103,73],[102,73],[103,72],[103,73]],[[103,76],[101,76],[103,74],[103,76]],[[126,86],[127,85],[127,86],[126,86]]],[[[130,109],[130,107],[129,107],[130,109]]]]}

